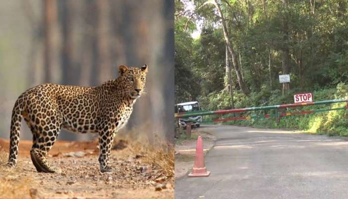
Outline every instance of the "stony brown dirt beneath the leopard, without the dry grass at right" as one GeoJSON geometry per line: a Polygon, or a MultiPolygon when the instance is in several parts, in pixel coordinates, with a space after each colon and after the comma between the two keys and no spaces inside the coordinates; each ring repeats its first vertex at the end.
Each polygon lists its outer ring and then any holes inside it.
{"type": "Polygon", "coordinates": [[[100,173],[96,142],[57,141],[49,152],[49,163],[61,174],[38,173],[31,162],[31,141],[19,143],[16,168],[3,166],[8,157],[8,141],[0,139],[0,198],[174,198],[174,178],[145,161],[120,142],[111,153],[111,173],[100,173]]]}

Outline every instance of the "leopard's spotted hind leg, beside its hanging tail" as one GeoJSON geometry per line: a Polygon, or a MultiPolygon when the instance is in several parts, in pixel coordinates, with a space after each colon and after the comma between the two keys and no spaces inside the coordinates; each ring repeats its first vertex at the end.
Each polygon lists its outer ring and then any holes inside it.
{"type": "Polygon", "coordinates": [[[46,159],[46,155],[57,140],[61,129],[62,119],[59,112],[50,111],[46,113],[31,115],[31,122],[28,124],[33,134],[33,145],[30,150],[31,160],[38,172],[60,173],[61,170],[51,167],[46,159]],[[52,114],[53,113],[53,114],[52,114]]]}

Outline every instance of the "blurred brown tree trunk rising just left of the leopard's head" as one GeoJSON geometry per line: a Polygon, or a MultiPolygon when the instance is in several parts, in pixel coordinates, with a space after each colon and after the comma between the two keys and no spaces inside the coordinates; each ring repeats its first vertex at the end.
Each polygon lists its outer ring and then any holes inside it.
{"type": "Polygon", "coordinates": [[[109,37],[109,1],[97,0],[96,47],[99,84],[112,78],[109,37]]]}

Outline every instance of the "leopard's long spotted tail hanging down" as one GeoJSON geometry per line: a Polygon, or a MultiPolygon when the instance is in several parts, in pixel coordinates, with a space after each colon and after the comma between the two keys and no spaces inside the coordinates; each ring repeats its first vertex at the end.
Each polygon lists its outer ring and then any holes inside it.
{"type": "Polygon", "coordinates": [[[20,122],[23,117],[23,106],[19,101],[21,100],[18,99],[15,102],[12,110],[11,129],[9,136],[9,156],[7,162],[7,166],[9,167],[14,167],[16,165],[18,156],[20,122]]]}

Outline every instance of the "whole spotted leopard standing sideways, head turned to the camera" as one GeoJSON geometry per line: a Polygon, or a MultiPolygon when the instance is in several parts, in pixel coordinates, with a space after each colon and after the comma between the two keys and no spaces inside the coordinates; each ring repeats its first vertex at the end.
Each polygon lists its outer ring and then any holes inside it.
{"type": "Polygon", "coordinates": [[[62,172],[51,166],[46,157],[62,128],[75,133],[96,133],[99,171],[111,172],[109,157],[114,137],[125,126],[135,101],[146,90],[148,66],[120,65],[118,71],[118,78],[96,87],[41,84],[22,93],[12,109],[6,165],[15,167],[17,163],[24,118],[32,133],[30,157],[37,172],[62,172]]]}

